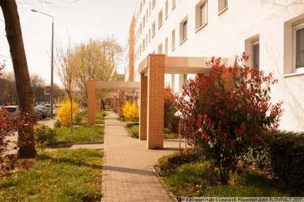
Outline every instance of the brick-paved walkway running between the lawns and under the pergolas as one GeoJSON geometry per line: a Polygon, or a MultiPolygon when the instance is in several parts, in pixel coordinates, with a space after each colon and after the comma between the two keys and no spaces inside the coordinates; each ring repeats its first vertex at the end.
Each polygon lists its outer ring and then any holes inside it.
{"type": "MultiPolygon", "coordinates": [[[[151,166],[162,155],[176,149],[148,150],[146,141],[130,138],[125,123],[108,112],[104,137],[105,162],[102,179],[102,202],[105,201],[172,201],[151,166]]],[[[168,141],[165,147],[177,147],[168,141]]]]}

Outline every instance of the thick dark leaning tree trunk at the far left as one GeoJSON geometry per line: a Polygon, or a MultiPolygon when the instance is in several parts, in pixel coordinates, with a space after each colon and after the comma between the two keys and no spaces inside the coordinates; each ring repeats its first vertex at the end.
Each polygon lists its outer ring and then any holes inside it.
{"type": "MultiPolygon", "coordinates": [[[[33,114],[33,92],[30,83],[30,74],[27,68],[27,60],[23,45],[22,31],[19,19],[19,13],[15,0],[0,0],[0,6],[5,21],[6,37],[10,45],[10,55],[14,68],[14,76],[16,79],[16,89],[19,98],[19,110],[33,114]]],[[[33,117],[28,118],[30,125],[33,123],[33,117]]],[[[28,143],[20,147],[17,155],[19,158],[34,158],[37,152],[34,144],[34,128],[23,127],[19,131],[19,141],[27,141],[28,143]],[[21,140],[21,134],[28,134],[25,140],[21,140]]]]}

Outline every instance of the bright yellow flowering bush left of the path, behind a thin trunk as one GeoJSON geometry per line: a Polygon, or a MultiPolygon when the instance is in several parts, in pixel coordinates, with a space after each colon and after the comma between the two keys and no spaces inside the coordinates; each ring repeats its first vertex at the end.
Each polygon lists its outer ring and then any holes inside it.
{"type": "MultiPolygon", "coordinates": [[[[58,108],[57,116],[62,125],[69,126],[71,125],[71,101],[65,98],[62,101],[56,102],[57,105],[61,105],[58,108]]],[[[72,101],[72,113],[75,116],[75,112],[78,111],[78,105],[72,101]]]]}

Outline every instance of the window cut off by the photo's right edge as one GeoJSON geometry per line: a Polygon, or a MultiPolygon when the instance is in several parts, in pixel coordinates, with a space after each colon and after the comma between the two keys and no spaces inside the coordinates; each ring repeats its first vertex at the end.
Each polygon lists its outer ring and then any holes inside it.
{"type": "Polygon", "coordinates": [[[294,25],[293,29],[293,72],[304,71],[304,22],[294,25]]]}

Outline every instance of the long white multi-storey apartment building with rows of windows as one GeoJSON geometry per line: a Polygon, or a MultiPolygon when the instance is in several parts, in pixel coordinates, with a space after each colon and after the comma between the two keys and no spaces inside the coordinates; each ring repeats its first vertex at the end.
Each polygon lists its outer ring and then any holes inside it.
{"type": "MultiPolygon", "coordinates": [[[[304,0],[139,0],[134,78],[149,53],[233,58],[274,73],[272,101],[283,101],[280,129],[304,131],[304,0]]],[[[189,77],[165,75],[176,92],[189,77]]]]}

